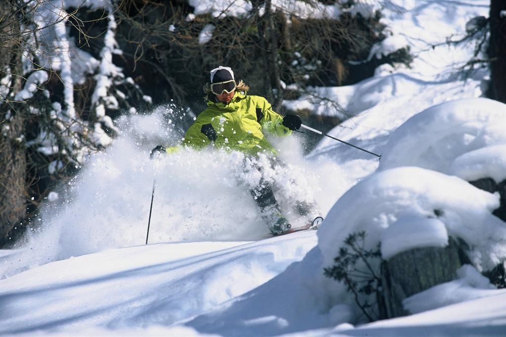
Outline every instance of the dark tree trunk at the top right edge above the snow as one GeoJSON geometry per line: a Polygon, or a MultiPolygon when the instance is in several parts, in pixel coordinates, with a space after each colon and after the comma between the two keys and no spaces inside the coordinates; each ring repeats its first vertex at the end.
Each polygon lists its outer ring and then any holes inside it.
{"type": "Polygon", "coordinates": [[[506,1],[490,1],[490,87],[488,97],[506,103],[506,1]]]}

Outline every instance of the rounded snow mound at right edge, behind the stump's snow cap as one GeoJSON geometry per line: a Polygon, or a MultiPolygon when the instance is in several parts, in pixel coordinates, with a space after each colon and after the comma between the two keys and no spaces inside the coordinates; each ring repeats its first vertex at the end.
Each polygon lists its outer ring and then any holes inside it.
{"type": "Polygon", "coordinates": [[[486,98],[462,99],[435,105],[405,121],[390,136],[378,170],[419,166],[461,174],[462,178],[506,178],[506,170],[497,172],[497,166],[477,162],[484,159],[499,167],[506,162],[506,104],[486,98]],[[499,147],[454,163],[457,157],[492,145],[499,147]],[[476,174],[466,168],[474,168],[476,174]]]}

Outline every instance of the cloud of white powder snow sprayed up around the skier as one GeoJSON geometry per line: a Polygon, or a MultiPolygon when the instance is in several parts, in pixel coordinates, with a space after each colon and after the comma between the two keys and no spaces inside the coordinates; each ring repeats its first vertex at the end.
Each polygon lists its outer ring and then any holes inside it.
{"type": "MultiPolygon", "coordinates": [[[[23,243],[0,255],[0,277],[104,249],[143,245],[155,176],[150,244],[265,237],[268,229],[258,207],[236,179],[243,154],[182,149],[161,160],[149,159],[154,146],[178,144],[183,135],[163,109],[158,110],[116,121],[120,136],[55,190],[59,197],[41,207],[37,226],[23,243]]],[[[266,175],[280,186],[275,193],[312,195],[324,216],[352,183],[331,160],[305,161],[299,141],[297,137],[271,140],[287,165],[266,175]]]]}

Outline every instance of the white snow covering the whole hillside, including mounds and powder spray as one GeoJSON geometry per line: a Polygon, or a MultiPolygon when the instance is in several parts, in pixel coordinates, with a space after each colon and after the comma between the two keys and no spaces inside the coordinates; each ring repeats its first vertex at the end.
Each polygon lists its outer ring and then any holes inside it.
{"type": "Polygon", "coordinates": [[[38,229],[0,250],[0,334],[504,335],[506,290],[478,270],[506,258],[506,224],[491,215],[498,195],[466,180],[506,178],[506,105],[478,98],[483,71],[458,76],[473,46],[431,48],[488,16],[488,1],[383,3],[392,37],[376,52],[403,41],[418,55],[412,68],[383,66],[355,86],[321,89],[355,115],[331,135],[382,161],[331,139],[306,158],[295,139],[277,143],[288,162],[272,172],[278,192],[313,194],[325,216],[318,231],[265,238],[237,184],[239,155],[150,161],[153,144],[180,135],[158,112],[134,116],[51,194],[38,229]],[[323,276],[360,230],[384,257],[458,236],[473,266],[408,298],[412,315],[367,324],[345,286],[323,276]]]}

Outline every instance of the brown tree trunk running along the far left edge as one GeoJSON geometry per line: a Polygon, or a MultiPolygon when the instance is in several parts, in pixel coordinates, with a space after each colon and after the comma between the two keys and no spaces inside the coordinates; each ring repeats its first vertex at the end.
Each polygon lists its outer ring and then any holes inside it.
{"type": "MultiPolygon", "coordinates": [[[[5,13],[7,21],[0,30],[0,70],[2,77],[10,76],[4,90],[17,93],[21,89],[21,34],[19,23],[11,16],[14,2],[0,2],[0,13],[5,13]],[[11,4],[12,3],[12,4],[11,4]]],[[[0,98],[0,247],[8,240],[9,232],[25,216],[25,176],[26,157],[24,147],[23,113],[15,110],[11,95],[0,98]]],[[[20,105],[18,104],[19,108],[20,105]]]]}

